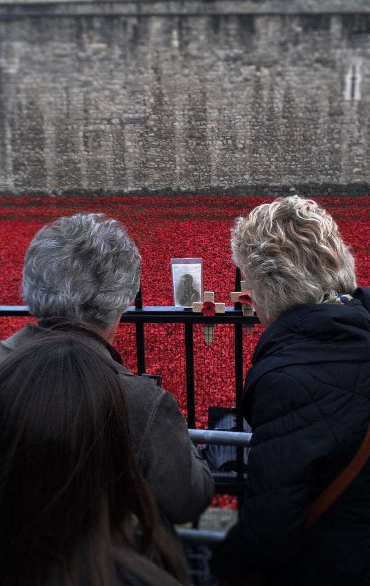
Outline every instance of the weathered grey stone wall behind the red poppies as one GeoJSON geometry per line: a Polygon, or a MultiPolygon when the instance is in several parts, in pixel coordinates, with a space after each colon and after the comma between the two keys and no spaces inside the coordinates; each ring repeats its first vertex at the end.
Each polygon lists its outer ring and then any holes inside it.
{"type": "Polygon", "coordinates": [[[0,6],[0,194],[367,193],[370,13],[24,6],[0,6]]]}

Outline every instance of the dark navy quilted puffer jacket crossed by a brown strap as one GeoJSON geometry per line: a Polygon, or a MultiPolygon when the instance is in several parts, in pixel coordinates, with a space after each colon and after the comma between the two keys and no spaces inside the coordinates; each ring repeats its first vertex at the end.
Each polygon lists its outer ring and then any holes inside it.
{"type": "Polygon", "coordinates": [[[308,530],[313,500],[358,451],[370,418],[370,289],[300,305],[262,334],[245,383],[253,429],[239,523],[211,571],[267,586],[370,585],[370,462],[308,530]]]}

